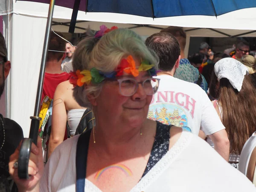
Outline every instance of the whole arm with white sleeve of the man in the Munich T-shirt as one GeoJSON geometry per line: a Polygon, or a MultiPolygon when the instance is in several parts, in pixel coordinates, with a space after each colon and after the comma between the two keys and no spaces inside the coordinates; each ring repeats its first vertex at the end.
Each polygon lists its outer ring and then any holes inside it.
{"type": "Polygon", "coordinates": [[[225,127],[206,93],[203,93],[201,101],[201,130],[204,131],[205,135],[209,135],[210,139],[214,143],[215,150],[228,161],[230,143],[225,127]]]}

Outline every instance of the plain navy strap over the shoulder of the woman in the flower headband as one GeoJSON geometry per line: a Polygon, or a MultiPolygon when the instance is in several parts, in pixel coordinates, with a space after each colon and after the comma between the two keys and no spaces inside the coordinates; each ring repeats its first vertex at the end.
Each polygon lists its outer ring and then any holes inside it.
{"type": "Polygon", "coordinates": [[[76,192],[84,192],[91,130],[80,135],[76,146],[76,192]]]}

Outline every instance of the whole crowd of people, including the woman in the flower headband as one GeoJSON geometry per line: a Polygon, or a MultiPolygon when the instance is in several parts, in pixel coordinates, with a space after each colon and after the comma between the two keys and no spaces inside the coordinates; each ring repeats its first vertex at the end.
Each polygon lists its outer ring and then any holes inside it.
{"type": "MultiPolygon", "coordinates": [[[[2,189],[256,191],[256,58],[246,41],[223,53],[202,42],[188,58],[181,27],[145,42],[106,26],[78,44],[59,32],[49,41],[41,99],[49,116],[32,144],[28,180],[17,176],[22,129],[0,116],[2,189]]],[[[7,58],[1,35],[0,94],[7,58]]]]}

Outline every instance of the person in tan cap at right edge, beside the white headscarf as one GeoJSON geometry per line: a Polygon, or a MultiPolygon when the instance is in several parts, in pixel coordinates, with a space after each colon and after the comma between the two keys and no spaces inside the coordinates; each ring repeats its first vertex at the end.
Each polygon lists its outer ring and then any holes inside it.
{"type": "Polygon", "coordinates": [[[240,59],[241,63],[249,70],[249,76],[252,78],[253,84],[256,87],[256,58],[252,55],[244,55],[240,59]]]}

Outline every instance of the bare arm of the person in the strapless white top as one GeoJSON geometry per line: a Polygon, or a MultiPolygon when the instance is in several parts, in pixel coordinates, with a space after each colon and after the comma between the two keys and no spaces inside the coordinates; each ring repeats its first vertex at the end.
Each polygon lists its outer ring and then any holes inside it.
{"type": "Polygon", "coordinates": [[[63,142],[66,125],[67,111],[64,103],[65,87],[59,84],[55,90],[52,104],[52,129],[49,138],[48,159],[54,149],[63,142]]]}

